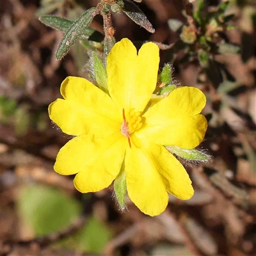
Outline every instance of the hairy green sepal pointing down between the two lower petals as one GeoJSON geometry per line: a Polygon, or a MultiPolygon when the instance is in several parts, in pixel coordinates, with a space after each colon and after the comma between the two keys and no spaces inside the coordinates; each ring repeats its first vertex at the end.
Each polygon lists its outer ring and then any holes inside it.
{"type": "Polygon", "coordinates": [[[122,211],[126,209],[126,198],[127,198],[127,189],[126,189],[126,177],[124,171],[124,163],[122,164],[120,173],[117,175],[114,181],[114,191],[116,196],[116,201],[122,211]]]}

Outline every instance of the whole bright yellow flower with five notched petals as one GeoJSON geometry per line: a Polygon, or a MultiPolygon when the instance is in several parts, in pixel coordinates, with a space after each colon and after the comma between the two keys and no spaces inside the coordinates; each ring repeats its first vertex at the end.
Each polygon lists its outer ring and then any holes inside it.
{"type": "Polygon", "coordinates": [[[180,87],[145,111],[156,88],[159,48],[144,44],[137,54],[128,39],[111,50],[107,60],[109,95],[88,80],[67,77],[49,116],[63,132],[75,135],[60,149],[54,170],[76,174],[82,193],[107,188],[124,161],[127,193],[145,214],[166,209],[168,193],[188,200],[193,187],[188,173],[164,145],[195,148],[207,121],[200,112],[205,95],[180,87]]]}

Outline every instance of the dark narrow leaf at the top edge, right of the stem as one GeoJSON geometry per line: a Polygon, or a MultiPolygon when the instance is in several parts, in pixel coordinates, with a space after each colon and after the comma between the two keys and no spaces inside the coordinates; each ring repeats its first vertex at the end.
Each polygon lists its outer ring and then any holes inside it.
{"type": "Polygon", "coordinates": [[[124,9],[123,12],[136,24],[140,25],[142,28],[145,28],[148,32],[154,33],[155,29],[152,24],[147,19],[146,15],[141,12],[140,8],[136,4],[132,3],[129,0],[124,0],[124,9]]]}

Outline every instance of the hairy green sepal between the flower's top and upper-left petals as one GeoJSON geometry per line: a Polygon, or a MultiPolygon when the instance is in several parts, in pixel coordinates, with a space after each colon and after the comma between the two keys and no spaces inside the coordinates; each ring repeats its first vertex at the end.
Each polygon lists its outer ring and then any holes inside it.
{"type": "Polygon", "coordinates": [[[90,62],[92,63],[93,77],[100,90],[108,93],[108,76],[106,68],[104,67],[96,52],[92,52],[92,58],[90,62]]]}

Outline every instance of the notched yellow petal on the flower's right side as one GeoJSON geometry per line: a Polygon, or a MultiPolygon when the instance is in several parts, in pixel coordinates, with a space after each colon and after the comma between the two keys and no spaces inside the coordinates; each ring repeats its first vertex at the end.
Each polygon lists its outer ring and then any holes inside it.
{"type": "Polygon", "coordinates": [[[199,89],[177,88],[145,113],[145,125],[137,136],[150,138],[159,145],[195,148],[207,129],[207,120],[198,115],[205,102],[205,95],[199,89]]]}

